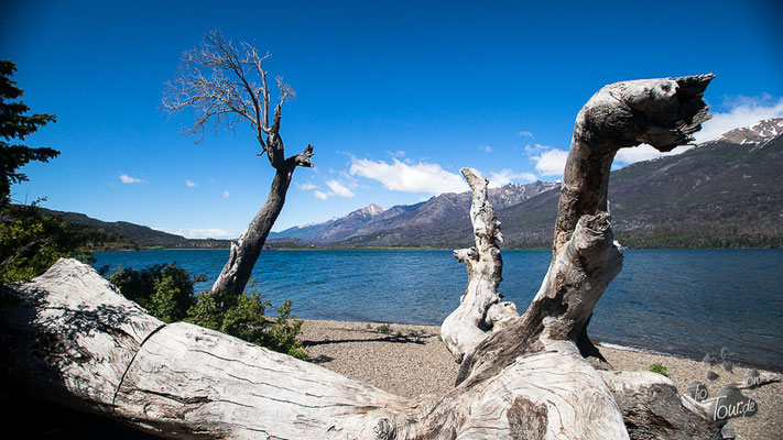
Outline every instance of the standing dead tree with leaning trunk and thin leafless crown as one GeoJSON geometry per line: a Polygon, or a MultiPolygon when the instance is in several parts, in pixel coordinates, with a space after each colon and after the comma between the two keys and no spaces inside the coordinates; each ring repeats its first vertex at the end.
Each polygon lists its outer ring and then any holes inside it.
{"type": "Polygon", "coordinates": [[[265,155],[275,170],[267,201],[239,240],[231,243],[228,262],[213,285],[213,293],[218,296],[222,292],[241,294],[244,290],[267,237],[283,209],[294,169],[313,167],[313,145],[307,145],[301,154],[285,157],[280,135],[282,107],[296,94],[276,77],[280,92],[273,103],[267,85],[269,72],[263,66],[270,56],[269,53],[260,55],[249,43],[235,47],[218,30],[207,32],[199,47],[183,54],[180,75],[167,84],[163,98],[162,109],[167,113],[186,109],[195,112],[195,122],[186,134],[203,136],[207,130],[217,132],[248,124],[261,146],[257,156],[265,155]],[[271,105],[274,105],[273,114],[270,114],[271,105]]]}

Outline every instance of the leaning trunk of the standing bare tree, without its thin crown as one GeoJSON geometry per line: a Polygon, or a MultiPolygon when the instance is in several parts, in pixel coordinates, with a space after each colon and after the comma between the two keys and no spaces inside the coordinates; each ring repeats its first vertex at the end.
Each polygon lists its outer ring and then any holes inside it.
{"type": "MultiPolygon", "coordinates": [[[[282,145],[282,141],[280,143],[282,145]]],[[[273,142],[269,142],[269,144],[273,144],[273,142]]],[[[253,272],[255,261],[258,261],[261,250],[267,243],[267,237],[269,237],[269,232],[283,209],[285,194],[291,185],[294,169],[297,166],[312,167],[312,156],[313,145],[307,145],[302,154],[292,156],[275,167],[276,172],[267,201],[239,240],[236,243],[231,243],[228,262],[226,262],[220,275],[213,284],[213,294],[218,298],[226,292],[241,294],[244,290],[244,286],[248,285],[250,275],[253,272]]],[[[272,156],[270,156],[270,161],[274,164],[272,156]]]]}

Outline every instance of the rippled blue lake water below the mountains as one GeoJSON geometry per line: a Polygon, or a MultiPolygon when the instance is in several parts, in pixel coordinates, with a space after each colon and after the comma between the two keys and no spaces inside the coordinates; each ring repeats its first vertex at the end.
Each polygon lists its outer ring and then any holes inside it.
{"type": "MultiPolygon", "coordinates": [[[[589,334],[627,346],[783,369],[783,250],[627,250],[620,275],[595,308],[589,334]]],[[[96,267],[177,262],[208,289],[228,251],[96,252],[96,267]]],[[[503,251],[501,293],[520,311],[550,251],[503,251]]],[[[293,300],[305,319],[441,324],[459,304],[467,273],[450,251],[263,251],[262,294],[293,300]]]]}

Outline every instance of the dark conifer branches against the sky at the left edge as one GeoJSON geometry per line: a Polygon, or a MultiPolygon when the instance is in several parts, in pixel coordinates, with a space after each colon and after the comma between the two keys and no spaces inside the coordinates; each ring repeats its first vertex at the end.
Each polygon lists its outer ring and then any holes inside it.
{"type": "Polygon", "coordinates": [[[26,175],[17,173],[20,167],[33,161],[48,162],[59,155],[58,151],[47,147],[31,148],[9,143],[11,140],[24,141],[41,127],[56,122],[53,114],[24,114],[30,108],[21,100],[23,90],[11,79],[15,70],[13,62],[0,61],[0,207],[9,202],[11,185],[28,180],[26,175]]]}

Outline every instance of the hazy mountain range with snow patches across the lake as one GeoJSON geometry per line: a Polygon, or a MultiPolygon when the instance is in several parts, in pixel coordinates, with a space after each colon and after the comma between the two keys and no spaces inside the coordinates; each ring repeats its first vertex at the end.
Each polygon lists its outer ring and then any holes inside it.
{"type": "MultiPolygon", "coordinates": [[[[783,245],[783,119],[732,130],[682,154],[612,172],[616,237],[632,248],[783,245]]],[[[505,248],[548,248],[558,183],[512,184],[489,193],[505,248]]],[[[273,233],[270,243],[455,248],[471,242],[470,195],[443,194],[273,233]]]]}

